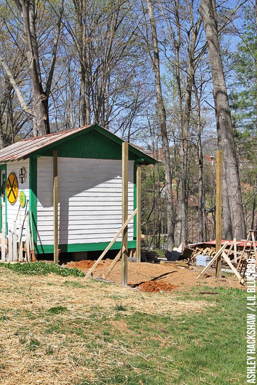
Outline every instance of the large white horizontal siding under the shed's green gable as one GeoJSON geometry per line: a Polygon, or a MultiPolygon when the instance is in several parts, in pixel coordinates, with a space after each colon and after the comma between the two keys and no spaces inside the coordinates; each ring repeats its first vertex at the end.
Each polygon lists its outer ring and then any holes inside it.
{"type": "MultiPolygon", "coordinates": [[[[129,161],[129,215],[134,209],[129,161]]],[[[58,158],[59,244],[109,242],[121,227],[121,160],[58,158]]],[[[38,159],[38,244],[53,244],[53,163],[38,159]]],[[[133,240],[133,221],[129,224],[133,240]]],[[[121,237],[118,238],[118,241],[121,237]]]]}

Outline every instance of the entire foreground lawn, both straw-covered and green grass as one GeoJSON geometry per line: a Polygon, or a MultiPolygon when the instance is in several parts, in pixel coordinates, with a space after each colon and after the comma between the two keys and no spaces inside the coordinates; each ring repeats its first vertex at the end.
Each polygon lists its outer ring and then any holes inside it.
{"type": "Polygon", "coordinates": [[[244,291],[148,294],[41,266],[0,267],[3,385],[246,383],[244,291]]]}

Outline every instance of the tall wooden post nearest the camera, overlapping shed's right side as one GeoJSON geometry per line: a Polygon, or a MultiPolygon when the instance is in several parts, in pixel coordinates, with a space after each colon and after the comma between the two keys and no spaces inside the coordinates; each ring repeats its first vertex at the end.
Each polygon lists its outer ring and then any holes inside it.
{"type": "MultiPolygon", "coordinates": [[[[129,168],[129,143],[122,143],[122,225],[127,220],[127,191],[128,178],[127,169],[129,168]]],[[[122,231],[121,246],[121,283],[127,285],[127,226],[122,231]]]]}

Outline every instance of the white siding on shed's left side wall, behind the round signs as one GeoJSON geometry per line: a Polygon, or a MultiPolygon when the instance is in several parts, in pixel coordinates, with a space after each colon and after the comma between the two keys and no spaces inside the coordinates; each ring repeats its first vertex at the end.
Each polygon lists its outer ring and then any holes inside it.
{"type": "MultiPolygon", "coordinates": [[[[8,226],[8,229],[13,230],[13,223],[16,220],[16,217],[17,217],[17,214],[19,211],[19,206],[20,206],[20,202],[19,202],[20,191],[24,191],[24,193],[26,195],[26,202],[29,201],[29,199],[30,199],[30,189],[29,189],[30,170],[29,170],[29,167],[30,167],[29,159],[7,163],[7,179],[8,179],[9,174],[11,172],[14,172],[16,177],[17,177],[17,180],[18,180],[18,188],[19,188],[18,199],[17,199],[16,203],[14,205],[11,205],[11,203],[7,200],[7,226],[8,226]],[[19,180],[19,171],[20,171],[21,167],[24,167],[26,169],[26,182],[23,184],[19,180]]],[[[25,208],[26,208],[26,206],[25,206],[25,208]]],[[[17,218],[17,222],[16,222],[17,234],[18,234],[19,229],[22,226],[23,221],[24,221],[25,208],[23,208],[23,209],[20,208],[20,211],[18,214],[18,218],[17,218]]],[[[29,202],[28,202],[27,210],[28,209],[29,209],[29,202]]],[[[24,237],[25,237],[25,233],[26,233],[26,226],[27,226],[27,221],[25,221],[25,224],[24,224],[24,231],[23,231],[24,237]]]]}

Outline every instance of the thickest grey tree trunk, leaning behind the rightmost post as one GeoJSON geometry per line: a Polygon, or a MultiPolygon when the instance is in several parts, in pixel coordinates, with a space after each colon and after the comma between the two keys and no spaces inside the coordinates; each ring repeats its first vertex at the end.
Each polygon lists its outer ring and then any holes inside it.
{"type": "MultiPolygon", "coordinates": [[[[228,103],[227,88],[223,72],[218,40],[216,6],[213,0],[201,0],[201,14],[212,73],[213,96],[216,106],[218,145],[223,151],[224,177],[227,182],[228,203],[231,215],[233,236],[245,237],[245,221],[242,207],[241,186],[235,151],[233,127],[228,103]]],[[[225,191],[223,191],[223,194],[225,191]]],[[[224,202],[223,202],[224,203],[224,202]]]]}

